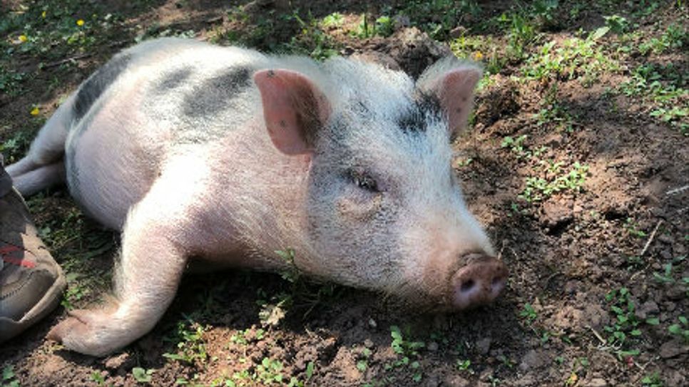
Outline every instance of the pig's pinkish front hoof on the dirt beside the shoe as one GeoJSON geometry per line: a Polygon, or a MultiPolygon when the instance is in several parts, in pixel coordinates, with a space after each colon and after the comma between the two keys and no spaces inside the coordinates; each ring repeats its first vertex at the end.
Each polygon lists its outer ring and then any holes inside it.
{"type": "Polygon", "coordinates": [[[108,345],[106,316],[99,312],[75,310],[69,312],[69,317],[57,324],[48,332],[47,339],[63,344],[67,349],[92,356],[105,356],[114,349],[108,345]]]}

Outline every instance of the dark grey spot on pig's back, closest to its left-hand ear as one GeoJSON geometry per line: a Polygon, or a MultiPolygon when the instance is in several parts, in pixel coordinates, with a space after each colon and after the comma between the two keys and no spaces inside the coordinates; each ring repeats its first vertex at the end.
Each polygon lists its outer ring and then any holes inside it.
{"type": "Polygon", "coordinates": [[[182,111],[190,117],[213,116],[231,106],[230,100],[250,86],[250,68],[229,68],[197,85],[185,96],[182,111]]]}

